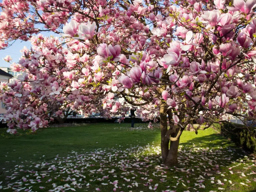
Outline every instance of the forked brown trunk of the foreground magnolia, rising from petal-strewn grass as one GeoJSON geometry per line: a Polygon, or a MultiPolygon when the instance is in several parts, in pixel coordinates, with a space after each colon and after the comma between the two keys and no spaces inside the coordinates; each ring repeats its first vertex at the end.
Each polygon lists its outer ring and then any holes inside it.
{"type": "MultiPolygon", "coordinates": [[[[169,139],[166,137],[167,133],[167,106],[164,102],[160,104],[160,128],[161,128],[161,152],[163,158],[163,164],[166,166],[174,166],[178,163],[178,147],[179,147],[179,139],[177,141],[170,141],[169,148],[169,139]]],[[[170,114],[169,114],[170,116],[170,114]]],[[[170,118],[170,117],[169,117],[170,118]]],[[[176,137],[179,129],[176,129],[176,132],[171,136],[176,137]]]]}

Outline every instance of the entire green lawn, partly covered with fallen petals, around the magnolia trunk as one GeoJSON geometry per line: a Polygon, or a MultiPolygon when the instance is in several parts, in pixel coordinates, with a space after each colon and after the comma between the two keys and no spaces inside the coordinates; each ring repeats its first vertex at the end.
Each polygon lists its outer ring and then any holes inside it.
{"type": "Polygon", "coordinates": [[[160,130],[136,125],[141,129],[87,124],[0,137],[0,190],[256,191],[255,159],[214,130],[183,132],[180,163],[168,168],[160,130]]]}

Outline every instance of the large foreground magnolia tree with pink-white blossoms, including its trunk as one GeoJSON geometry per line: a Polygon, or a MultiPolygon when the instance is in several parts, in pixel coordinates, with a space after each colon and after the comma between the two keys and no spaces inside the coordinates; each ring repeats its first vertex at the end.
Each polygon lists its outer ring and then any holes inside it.
{"type": "Polygon", "coordinates": [[[19,81],[1,84],[8,108],[2,121],[11,133],[36,131],[47,126],[49,105],[59,100],[84,114],[140,106],[146,120],[160,115],[163,163],[173,165],[179,138],[193,122],[207,128],[225,115],[256,119],[255,5],[3,0],[0,47],[29,40],[32,48],[12,64],[23,71],[19,81]]]}

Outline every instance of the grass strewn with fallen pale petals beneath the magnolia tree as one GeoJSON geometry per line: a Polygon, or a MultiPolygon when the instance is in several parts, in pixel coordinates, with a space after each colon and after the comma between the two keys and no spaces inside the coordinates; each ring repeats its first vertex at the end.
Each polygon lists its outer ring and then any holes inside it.
{"type": "MultiPolygon", "coordinates": [[[[112,137],[110,138],[112,139],[112,137]]],[[[76,191],[95,191],[96,188],[99,188],[102,192],[113,191],[114,185],[110,182],[115,180],[118,181],[118,187],[122,187],[120,189],[116,187],[117,192],[153,191],[150,187],[153,189],[157,187],[155,191],[169,189],[176,190],[177,192],[194,191],[193,188],[196,188],[196,191],[199,192],[255,191],[256,184],[252,181],[253,175],[247,175],[252,170],[252,167],[250,167],[252,162],[244,157],[241,151],[238,152],[231,145],[220,145],[224,140],[218,136],[216,138],[216,135],[213,134],[181,143],[179,164],[174,167],[165,167],[161,164],[161,150],[159,146],[145,145],[145,143],[130,146],[126,142],[127,148],[125,149],[118,146],[112,147],[109,150],[97,148],[89,152],[75,150],[78,152],[70,152],[66,157],[57,156],[56,159],[54,158],[39,164],[37,168],[35,168],[35,165],[38,162],[35,161],[31,163],[32,167],[22,167],[25,172],[18,172],[16,169],[13,169],[10,173],[17,172],[15,175],[17,177],[14,179],[12,179],[13,177],[7,178],[4,185],[6,186],[16,181],[20,182],[22,181],[22,176],[29,175],[28,179],[33,179],[36,182],[33,184],[33,190],[37,191],[53,189],[53,183],[56,186],[69,184],[76,191]],[[209,141],[216,142],[213,145],[209,141]],[[193,145],[193,143],[197,145],[193,145]],[[238,161],[236,161],[237,159],[238,161]],[[232,167],[233,174],[229,172],[230,167],[232,167]],[[45,172],[45,170],[47,171],[45,172]],[[45,174],[44,178],[40,178],[40,183],[37,183],[35,171],[38,171],[39,175],[45,174]],[[64,171],[66,172],[64,173],[64,171]],[[246,177],[242,177],[241,172],[244,172],[246,177]],[[214,177],[214,183],[211,183],[213,181],[211,177],[214,177]],[[76,182],[74,182],[73,178],[75,178],[76,182]],[[224,179],[227,179],[227,181],[224,181],[224,179]],[[246,179],[252,181],[252,183],[247,183],[246,179]],[[217,184],[218,180],[223,185],[217,184]],[[232,186],[228,182],[229,180],[235,185],[232,186]],[[240,184],[241,182],[251,187],[242,185],[240,184]],[[108,185],[103,185],[102,183],[108,185]],[[39,186],[45,188],[40,190],[39,186]],[[225,190],[218,190],[219,187],[225,190]]],[[[23,187],[25,183],[23,182],[23,185],[20,187],[23,187]]]]}

